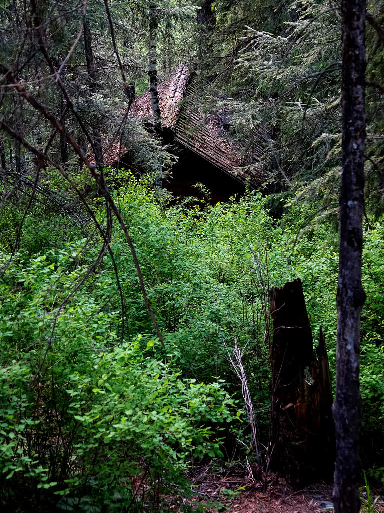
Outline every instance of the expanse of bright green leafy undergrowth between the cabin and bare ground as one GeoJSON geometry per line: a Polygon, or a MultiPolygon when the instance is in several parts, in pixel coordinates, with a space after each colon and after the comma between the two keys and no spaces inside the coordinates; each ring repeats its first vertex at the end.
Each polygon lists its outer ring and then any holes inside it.
{"type": "MultiPolygon", "coordinates": [[[[227,352],[235,338],[245,349],[266,465],[272,285],[303,280],[314,339],[322,326],[334,376],[336,219],[305,224],[311,207],[289,202],[276,220],[267,199],[251,191],[227,204],[185,200],[169,207],[148,183],[126,173],[113,194],[165,348],[117,227],[115,264],[106,253],[92,267],[101,241],[91,225],[37,203],[19,229],[24,206],[2,211],[0,501],[7,511],[165,511],[169,496],[188,509],[182,498],[194,496],[191,466],[254,467],[242,383],[227,352]]],[[[93,207],[103,225],[101,199],[93,207]]],[[[361,324],[361,457],[378,487],[384,484],[383,233],[381,220],[366,226],[361,324]]]]}

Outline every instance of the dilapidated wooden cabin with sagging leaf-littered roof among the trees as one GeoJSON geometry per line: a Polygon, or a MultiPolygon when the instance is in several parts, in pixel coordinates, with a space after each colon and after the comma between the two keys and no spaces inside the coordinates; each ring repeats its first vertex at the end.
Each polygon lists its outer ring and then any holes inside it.
{"type": "MultiPolygon", "coordinates": [[[[165,187],[175,195],[199,196],[194,186],[202,183],[212,201],[224,201],[231,195],[244,192],[246,183],[257,188],[263,182],[257,163],[266,147],[265,131],[255,128],[245,143],[230,133],[229,107],[220,112],[204,112],[204,85],[196,71],[181,65],[158,85],[161,124],[167,142],[172,144],[178,162],[165,187]]],[[[220,95],[225,103],[225,96],[220,95]]],[[[130,115],[151,123],[151,95],[136,98],[130,115]]],[[[125,148],[118,143],[104,153],[106,165],[124,163],[125,148]]]]}

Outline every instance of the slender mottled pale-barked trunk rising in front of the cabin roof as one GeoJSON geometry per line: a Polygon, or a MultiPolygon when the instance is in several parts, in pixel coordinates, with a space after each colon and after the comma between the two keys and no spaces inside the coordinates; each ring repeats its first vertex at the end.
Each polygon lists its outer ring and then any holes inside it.
{"type": "MultiPolygon", "coordinates": [[[[161,135],[161,110],[159,90],[157,88],[157,29],[159,25],[156,2],[150,2],[150,44],[148,52],[148,75],[150,76],[151,107],[154,117],[155,132],[161,135]]],[[[163,168],[160,166],[155,184],[163,187],[163,168]]]]}

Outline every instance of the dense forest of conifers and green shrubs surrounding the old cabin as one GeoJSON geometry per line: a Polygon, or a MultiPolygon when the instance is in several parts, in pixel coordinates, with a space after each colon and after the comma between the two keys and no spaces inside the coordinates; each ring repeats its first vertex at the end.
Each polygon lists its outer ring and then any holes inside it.
{"type": "MultiPolygon", "coordinates": [[[[377,487],[383,12],[375,0],[367,15],[360,369],[362,468],[377,487]]],[[[4,0],[0,31],[2,508],[165,511],[169,496],[187,508],[191,465],[265,471],[272,285],[302,279],[335,375],[339,4],[4,0]],[[204,84],[201,109],[230,112],[228,139],[246,147],[267,133],[264,156],[243,169],[260,187],[226,203],[203,185],[199,201],[156,185],[177,155],[161,126],[130,115],[148,72],[161,82],[185,63],[204,84]],[[104,141],[128,148],[129,164],[106,166],[104,141]]]]}

